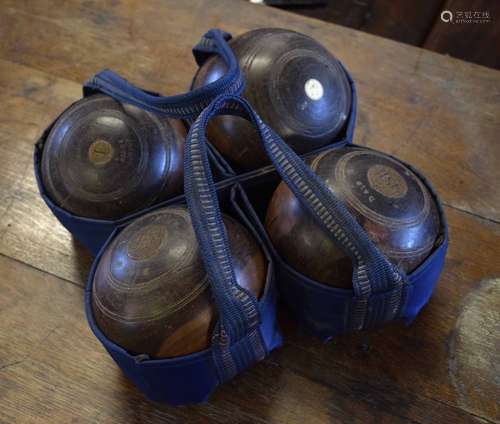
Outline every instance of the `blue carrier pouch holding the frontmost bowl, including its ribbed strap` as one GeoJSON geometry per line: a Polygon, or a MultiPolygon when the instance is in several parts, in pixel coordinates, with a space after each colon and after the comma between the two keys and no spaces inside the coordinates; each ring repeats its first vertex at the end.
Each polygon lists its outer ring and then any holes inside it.
{"type": "Polygon", "coordinates": [[[85,291],[89,325],[118,366],[147,398],[174,405],[206,401],[219,384],[262,360],[282,343],[275,316],[272,255],[251,224],[253,212],[239,200],[241,187],[238,184],[215,187],[208,147],[199,127],[196,121],[186,141],[185,198],[170,200],[164,206],[184,201],[188,205],[218,311],[210,348],[171,359],[150,359],[147,355],[129,354],[99,330],[91,306],[94,274],[102,253],[125,224],[114,230],[98,254],[85,291]],[[219,202],[225,212],[250,230],[267,258],[266,285],[259,300],[236,284],[219,202]]]}

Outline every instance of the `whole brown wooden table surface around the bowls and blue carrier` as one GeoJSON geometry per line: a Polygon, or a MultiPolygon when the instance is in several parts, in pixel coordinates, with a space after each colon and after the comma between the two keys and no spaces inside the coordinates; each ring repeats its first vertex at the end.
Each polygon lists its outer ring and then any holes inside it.
{"type": "Polygon", "coordinates": [[[243,1],[2,0],[0,422],[499,422],[500,72],[243,1]],[[173,94],[211,27],[311,35],[351,71],[355,142],[408,161],[437,188],[450,248],[410,327],[323,345],[281,312],[284,346],[205,405],[146,401],[91,334],[90,256],[37,193],[33,143],[112,68],[173,94]]]}

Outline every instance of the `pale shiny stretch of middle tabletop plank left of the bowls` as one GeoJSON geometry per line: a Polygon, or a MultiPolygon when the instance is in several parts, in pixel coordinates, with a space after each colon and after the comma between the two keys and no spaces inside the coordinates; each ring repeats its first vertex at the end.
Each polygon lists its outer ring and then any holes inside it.
{"type": "Polygon", "coordinates": [[[84,284],[90,255],[38,193],[33,146],[47,122],[81,96],[76,83],[0,60],[0,253],[84,284]]]}

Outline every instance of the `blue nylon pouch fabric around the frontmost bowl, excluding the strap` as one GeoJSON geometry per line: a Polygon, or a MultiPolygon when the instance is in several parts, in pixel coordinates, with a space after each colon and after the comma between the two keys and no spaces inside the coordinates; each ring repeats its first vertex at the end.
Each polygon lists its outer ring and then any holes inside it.
{"type": "MultiPolygon", "coordinates": [[[[232,186],[230,190],[230,206],[236,211],[233,216],[248,225],[246,214],[247,204],[237,204],[235,191],[241,188],[232,186]]],[[[171,359],[150,359],[146,355],[130,355],[120,346],[107,339],[97,327],[92,313],[92,282],[97,264],[114,237],[123,230],[125,225],[116,228],[102,247],[92,265],[85,289],[85,313],[90,328],[108,351],[113,360],[123,370],[125,375],[153,401],[171,405],[201,403],[208,400],[210,394],[220,384],[217,367],[212,349],[206,349],[191,355],[171,359]]],[[[249,227],[252,234],[256,231],[249,227]]],[[[257,238],[260,242],[261,240],[257,238]]],[[[267,352],[281,346],[282,336],[276,322],[276,287],[274,281],[274,265],[268,249],[263,246],[263,252],[269,261],[264,293],[258,301],[261,318],[259,332],[267,352]]]]}

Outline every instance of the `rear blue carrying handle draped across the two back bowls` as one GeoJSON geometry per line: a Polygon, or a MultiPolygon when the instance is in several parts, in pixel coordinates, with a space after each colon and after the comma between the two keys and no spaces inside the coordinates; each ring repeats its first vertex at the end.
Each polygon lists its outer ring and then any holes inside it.
{"type": "Polygon", "coordinates": [[[228,45],[231,34],[219,29],[211,29],[193,48],[198,66],[213,54],[224,61],[227,72],[218,80],[187,93],[174,96],[160,96],[142,90],[117,73],[106,69],[94,75],[84,84],[84,94],[100,91],[126,103],[170,118],[194,120],[200,112],[219,94],[240,94],[244,80],[236,57],[228,45]]]}

